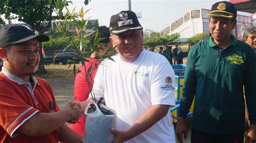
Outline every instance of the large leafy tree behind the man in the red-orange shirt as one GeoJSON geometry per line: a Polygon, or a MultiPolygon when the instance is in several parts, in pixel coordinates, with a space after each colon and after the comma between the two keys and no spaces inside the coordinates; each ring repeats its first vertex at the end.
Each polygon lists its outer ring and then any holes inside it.
{"type": "MultiPolygon", "coordinates": [[[[56,3],[61,3],[65,0],[56,0],[56,3]]],[[[91,0],[85,0],[88,4],[91,0]]],[[[71,2],[65,1],[65,5],[71,2]]],[[[38,34],[43,34],[51,28],[52,12],[55,7],[48,1],[28,1],[28,0],[1,0],[0,14],[11,24],[12,19],[18,19],[19,22],[29,24],[32,30],[38,34]]],[[[62,13],[62,10],[59,11],[62,13]]],[[[5,24],[0,18],[0,24],[5,24]]],[[[40,44],[42,47],[42,44],[40,44]]],[[[46,73],[43,63],[42,48],[40,48],[41,61],[39,62],[38,74],[46,73]]]]}

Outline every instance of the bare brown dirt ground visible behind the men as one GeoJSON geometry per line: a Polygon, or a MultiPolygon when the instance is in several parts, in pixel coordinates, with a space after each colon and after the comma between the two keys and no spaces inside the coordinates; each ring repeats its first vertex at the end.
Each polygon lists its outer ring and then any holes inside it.
{"type": "MultiPolygon", "coordinates": [[[[186,60],[184,60],[184,63],[186,63],[186,60]]],[[[52,87],[53,93],[55,95],[56,102],[60,108],[60,110],[63,110],[65,107],[65,104],[73,99],[73,86],[75,82],[75,75],[70,74],[69,77],[68,74],[72,71],[71,69],[68,69],[67,66],[57,66],[57,65],[50,65],[45,66],[46,70],[48,71],[49,75],[44,75],[43,78],[48,81],[52,87]],[[50,76],[51,73],[59,73],[59,76],[50,76]]],[[[187,121],[187,126],[189,128],[188,130],[188,137],[187,140],[184,141],[190,142],[191,138],[191,121],[187,121]]],[[[178,142],[178,141],[177,141],[178,142]]]]}

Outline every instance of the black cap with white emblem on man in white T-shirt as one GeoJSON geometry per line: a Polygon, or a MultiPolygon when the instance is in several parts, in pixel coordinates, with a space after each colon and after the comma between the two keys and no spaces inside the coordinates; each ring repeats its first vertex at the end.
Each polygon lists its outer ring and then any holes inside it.
{"type": "Polygon", "coordinates": [[[133,11],[121,11],[110,18],[110,33],[115,35],[127,30],[143,30],[133,11]]]}

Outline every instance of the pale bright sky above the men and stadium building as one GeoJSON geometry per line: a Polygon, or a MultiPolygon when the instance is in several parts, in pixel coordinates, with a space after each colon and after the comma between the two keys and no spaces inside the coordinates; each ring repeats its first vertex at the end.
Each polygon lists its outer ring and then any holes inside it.
{"type": "MultiPolygon", "coordinates": [[[[89,5],[84,5],[83,0],[74,0],[69,8],[80,10],[91,9],[86,13],[90,19],[98,19],[99,25],[109,26],[109,20],[112,15],[122,10],[128,10],[128,0],[91,0],[89,5]]],[[[157,32],[163,30],[167,25],[183,16],[189,10],[211,9],[216,0],[131,0],[132,11],[142,12],[142,18],[139,19],[144,29],[150,29],[157,32]]]]}

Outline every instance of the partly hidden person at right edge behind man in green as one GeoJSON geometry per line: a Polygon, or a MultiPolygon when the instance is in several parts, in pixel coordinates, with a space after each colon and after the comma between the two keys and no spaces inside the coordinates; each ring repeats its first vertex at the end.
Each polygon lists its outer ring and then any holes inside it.
{"type": "Polygon", "coordinates": [[[251,26],[246,28],[244,34],[245,42],[256,51],[256,27],[251,26]]]}

